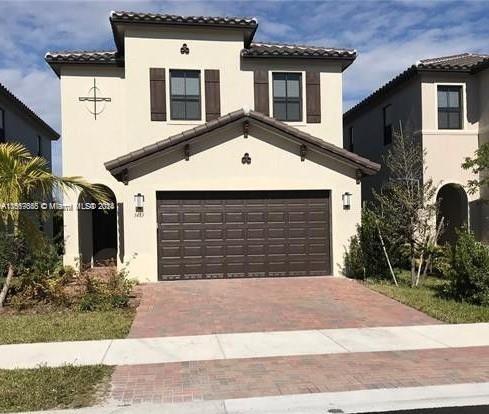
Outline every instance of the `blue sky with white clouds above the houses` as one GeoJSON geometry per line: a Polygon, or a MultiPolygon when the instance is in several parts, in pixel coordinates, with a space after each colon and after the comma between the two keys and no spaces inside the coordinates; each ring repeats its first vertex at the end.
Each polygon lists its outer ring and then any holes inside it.
{"type": "MultiPolygon", "coordinates": [[[[343,1],[1,1],[0,82],[60,131],[59,81],[48,50],[113,49],[111,10],[257,17],[255,40],[350,47],[348,109],[419,59],[489,53],[489,2],[343,1]]],[[[54,148],[59,169],[60,144],[54,148]]]]}

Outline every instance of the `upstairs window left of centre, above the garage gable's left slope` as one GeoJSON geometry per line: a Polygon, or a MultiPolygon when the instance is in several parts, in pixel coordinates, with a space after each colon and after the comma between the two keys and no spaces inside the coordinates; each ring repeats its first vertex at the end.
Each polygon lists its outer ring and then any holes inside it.
{"type": "Polygon", "coordinates": [[[171,119],[200,120],[200,71],[170,71],[171,119]]]}

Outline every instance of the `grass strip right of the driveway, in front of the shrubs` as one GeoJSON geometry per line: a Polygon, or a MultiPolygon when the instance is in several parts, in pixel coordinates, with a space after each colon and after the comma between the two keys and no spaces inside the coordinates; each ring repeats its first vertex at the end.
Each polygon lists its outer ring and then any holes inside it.
{"type": "Polygon", "coordinates": [[[369,279],[366,285],[377,292],[418,309],[427,315],[448,323],[489,322],[489,307],[444,299],[439,292],[446,281],[428,277],[417,288],[409,286],[409,277],[400,277],[399,287],[386,281],[369,279]]]}

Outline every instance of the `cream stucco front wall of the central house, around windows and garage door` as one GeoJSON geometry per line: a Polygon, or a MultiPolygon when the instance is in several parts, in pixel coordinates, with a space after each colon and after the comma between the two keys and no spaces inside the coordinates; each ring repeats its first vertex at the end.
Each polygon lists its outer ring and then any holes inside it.
{"type": "MultiPolygon", "coordinates": [[[[240,57],[242,47],[241,34],[233,31],[226,31],[224,35],[212,30],[153,32],[138,29],[136,32],[128,29],[125,68],[70,66],[61,69],[64,174],[81,175],[91,182],[107,185],[115,193],[117,202],[123,203],[123,260],[137,254],[131,260],[130,272],[139,280],[157,280],[156,191],[165,190],[331,190],[332,265],[334,274],[340,273],[344,248],[360,221],[360,185],[356,184],[354,170],[350,167],[336,165],[332,160],[325,165],[323,158],[313,161],[318,157],[313,153],[308,155],[308,160],[301,162],[297,148],[293,151],[283,148],[280,144],[282,137],[268,137],[264,141],[267,137],[264,131],[255,131],[255,134],[252,131],[247,139],[235,131],[231,134],[234,139],[193,155],[189,162],[179,160],[164,168],[145,171],[145,175],[130,181],[127,186],[116,181],[103,166],[108,160],[204,122],[150,120],[151,67],[163,67],[167,71],[219,69],[222,114],[242,107],[253,108],[253,68],[266,65],[272,72],[305,71],[314,67],[321,71],[322,123],[293,125],[341,146],[340,64],[301,60],[287,62],[282,59],[257,59],[248,63],[240,57]],[[189,55],[180,54],[184,42],[190,49],[189,55]],[[78,100],[78,97],[88,94],[94,77],[99,94],[111,98],[97,120],[87,110],[88,104],[78,100]],[[252,157],[250,166],[241,164],[244,152],[252,157]],[[350,210],[343,210],[341,195],[347,191],[353,194],[353,205],[350,210]],[[135,217],[134,214],[133,199],[137,193],[145,196],[144,217],[135,217]]],[[[203,74],[201,79],[204,119],[203,74]]],[[[169,117],[168,82],[166,95],[169,117]]],[[[303,111],[305,120],[305,100],[303,111]]],[[[220,131],[219,137],[224,139],[227,135],[220,131]]],[[[164,164],[158,167],[161,165],[164,164]]],[[[66,201],[76,203],[77,195],[71,194],[66,201]]],[[[65,213],[67,264],[75,264],[79,256],[77,216],[75,210],[65,213]]]]}

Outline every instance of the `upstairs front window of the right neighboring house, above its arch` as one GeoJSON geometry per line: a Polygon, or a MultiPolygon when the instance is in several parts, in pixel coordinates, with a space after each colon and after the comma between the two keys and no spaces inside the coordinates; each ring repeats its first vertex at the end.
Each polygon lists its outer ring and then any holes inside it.
{"type": "Polygon", "coordinates": [[[438,129],[462,129],[461,86],[438,86],[438,129]]]}

